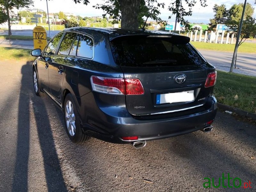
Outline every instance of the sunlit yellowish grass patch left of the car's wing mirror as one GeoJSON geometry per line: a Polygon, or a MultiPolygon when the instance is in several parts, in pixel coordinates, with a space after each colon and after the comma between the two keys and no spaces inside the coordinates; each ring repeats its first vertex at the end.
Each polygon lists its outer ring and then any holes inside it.
{"type": "Polygon", "coordinates": [[[0,47],[0,60],[35,60],[35,57],[30,55],[30,51],[28,49],[0,47]]]}

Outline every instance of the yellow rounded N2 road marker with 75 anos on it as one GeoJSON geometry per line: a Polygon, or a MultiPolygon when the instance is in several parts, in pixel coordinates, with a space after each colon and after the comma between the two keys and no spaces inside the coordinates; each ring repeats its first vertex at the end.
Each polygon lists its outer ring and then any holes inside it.
{"type": "Polygon", "coordinates": [[[46,31],[42,26],[33,29],[34,49],[43,50],[47,44],[46,31]]]}

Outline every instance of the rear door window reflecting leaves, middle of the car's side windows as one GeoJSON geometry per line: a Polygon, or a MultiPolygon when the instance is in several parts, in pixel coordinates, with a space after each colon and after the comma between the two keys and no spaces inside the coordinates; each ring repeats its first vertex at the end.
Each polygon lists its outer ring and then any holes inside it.
{"type": "Polygon", "coordinates": [[[69,51],[71,49],[71,46],[74,42],[74,39],[76,37],[76,33],[66,33],[64,36],[61,44],[60,49],[58,51],[58,55],[68,55],[69,51]]]}

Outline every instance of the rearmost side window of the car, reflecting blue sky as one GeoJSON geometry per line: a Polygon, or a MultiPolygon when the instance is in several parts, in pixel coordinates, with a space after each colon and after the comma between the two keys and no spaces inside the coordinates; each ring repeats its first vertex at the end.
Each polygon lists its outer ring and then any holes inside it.
{"type": "Polygon", "coordinates": [[[93,57],[93,40],[92,38],[80,35],[77,45],[77,56],[92,59],[93,57]]]}

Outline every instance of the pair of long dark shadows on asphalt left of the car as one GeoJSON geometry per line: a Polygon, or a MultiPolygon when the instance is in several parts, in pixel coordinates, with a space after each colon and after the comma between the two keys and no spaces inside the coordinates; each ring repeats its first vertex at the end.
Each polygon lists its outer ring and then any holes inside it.
{"type": "MultiPolygon", "coordinates": [[[[31,62],[22,66],[21,89],[19,99],[19,120],[17,156],[13,176],[12,191],[28,191],[28,159],[29,159],[29,105],[33,106],[39,142],[44,161],[44,172],[48,191],[67,191],[60,162],[55,149],[49,117],[43,99],[34,93],[31,62]]],[[[33,181],[30,181],[33,182],[33,181]]]]}

